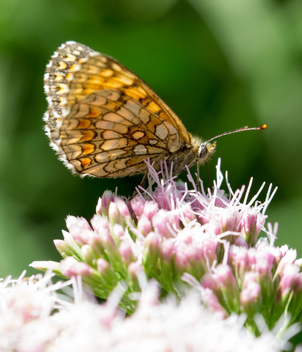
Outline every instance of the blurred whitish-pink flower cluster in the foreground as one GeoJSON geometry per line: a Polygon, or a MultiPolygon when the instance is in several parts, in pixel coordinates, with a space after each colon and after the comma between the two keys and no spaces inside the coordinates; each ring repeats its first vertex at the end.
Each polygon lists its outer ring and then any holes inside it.
{"type": "Polygon", "coordinates": [[[198,352],[202,346],[205,352],[281,352],[290,346],[268,331],[256,338],[237,316],[222,320],[208,313],[197,295],[181,305],[172,297],[160,303],[154,283],[144,286],[135,313],[127,317],[117,309],[120,287],[98,304],[83,294],[81,277],[52,284],[50,273],[27,280],[24,275],[0,282],[1,351],[198,352]],[[74,298],[57,293],[67,289],[74,298]]]}

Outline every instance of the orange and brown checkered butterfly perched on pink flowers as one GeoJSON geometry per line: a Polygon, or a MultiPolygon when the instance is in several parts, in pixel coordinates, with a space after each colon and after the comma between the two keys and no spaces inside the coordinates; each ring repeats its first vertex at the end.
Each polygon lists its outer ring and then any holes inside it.
{"type": "MultiPolygon", "coordinates": [[[[193,136],[141,78],[110,56],[77,42],[62,44],[44,75],[46,134],[59,159],[80,176],[145,174],[149,158],[173,174],[206,163],[214,138],[193,136]]],[[[264,127],[265,126],[265,127],[264,127]]]]}

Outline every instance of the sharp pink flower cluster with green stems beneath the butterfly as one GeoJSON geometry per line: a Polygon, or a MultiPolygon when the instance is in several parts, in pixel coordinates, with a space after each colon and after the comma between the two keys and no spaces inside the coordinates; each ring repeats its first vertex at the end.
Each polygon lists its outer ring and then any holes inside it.
{"type": "Polygon", "coordinates": [[[280,333],[296,321],[302,310],[301,260],[287,246],[274,246],[276,230],[264,227],[265,211],[276,189],[271,185],[264,202],[248,201],[245,192],[227,195],[220,189],[223,175],[217,166],[217,182],[207,193],[187,183],[175,182],[168,171],[149,165],[149,187],[140,188],[130,200],[106,191],[99,200],[91,224],[69,216],[64,240],[54,243],[64,258],[60,263],[34,262],[35,268],[51,268],[57,275],[81,275],[85,287],[107,299],[117,285],[124,294],[120,307],[133,313],[133,293],[153,278],[161,295],[187,294],[188,284],[199,289],[205,305],[224,318],[245,313],[246,326],[259,329],[256,313],[272,329],[282,314],[280,333]],[[160,178],[161,176],[161,178],[160,178]],[[258,238],[259,232],[266,238],[258,238]]]}

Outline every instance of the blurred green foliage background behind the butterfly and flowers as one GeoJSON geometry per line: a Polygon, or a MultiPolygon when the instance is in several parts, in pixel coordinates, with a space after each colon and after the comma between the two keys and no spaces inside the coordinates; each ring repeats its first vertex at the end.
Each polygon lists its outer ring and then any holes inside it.
{"type": "Polygon", "coordinates": [[[118,59],[205,139],[268,124],[219,139],[211,178],[221,157],[233,189],[253,176],[263,200],[278,186],[268,221],[301,256],[301,16],[294,0],[1,0],[0,276],[59,260],[66,215],[90,219],[105,189],[129,195],[140,182],[72,176],[49,147],[43,74],[66,40],[118,59]]]}

